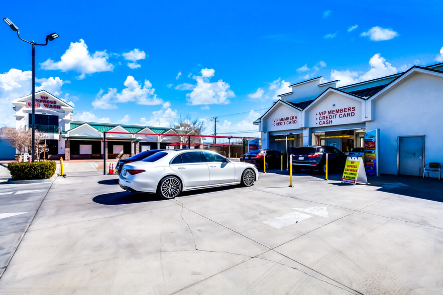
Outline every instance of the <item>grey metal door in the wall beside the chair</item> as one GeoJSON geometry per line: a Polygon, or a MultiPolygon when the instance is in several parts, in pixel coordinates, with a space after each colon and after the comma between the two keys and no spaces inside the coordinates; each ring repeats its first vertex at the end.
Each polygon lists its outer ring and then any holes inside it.
{"type": "Polygon", "coordinates": [[[398,137],[398,174],[420,176],[424,162],[424,136],[398,137]]]}

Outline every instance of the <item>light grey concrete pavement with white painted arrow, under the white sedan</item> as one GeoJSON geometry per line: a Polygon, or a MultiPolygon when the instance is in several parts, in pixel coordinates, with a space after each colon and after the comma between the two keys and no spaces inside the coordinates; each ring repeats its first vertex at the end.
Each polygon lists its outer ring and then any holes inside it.
{"type": "MultiPolygon", "coordinates": [[[[0,293],[441,293],[443,182],[261,174],[250,188],[133,195],[68,163],[0,293]]],[[[276,171],[274,171],[276,172],[276,171]]]]}

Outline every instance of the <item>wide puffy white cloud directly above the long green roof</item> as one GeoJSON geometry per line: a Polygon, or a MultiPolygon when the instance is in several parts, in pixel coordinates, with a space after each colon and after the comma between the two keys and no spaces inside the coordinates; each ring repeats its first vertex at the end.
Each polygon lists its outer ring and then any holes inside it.
{"type": "Polygon", "coordinates": [[[118,92],[116,88],[108,88],[106,94],[100,89],[95,100],[92,102],[94,108],[112,109],[117,108],[117,103],[135,102],[142,105],[156,105],[163,103],[163,99],[158,98],[155,89],[152,88],[151,82],[145,80],[142,87],[133,76],[128,76],[124,82],[126,86],[122,92],[118,92]]]}

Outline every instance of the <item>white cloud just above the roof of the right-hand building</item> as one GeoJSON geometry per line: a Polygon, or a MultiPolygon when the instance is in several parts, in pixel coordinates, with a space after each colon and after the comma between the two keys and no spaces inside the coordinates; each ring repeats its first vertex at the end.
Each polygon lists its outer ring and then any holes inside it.
{"type": "Polygon", "coordinates": [[[330,80],[338,79],[340,80],[338,86],[345,86],[398,73],[398,69],[388,63],[380,53],[371,57],[369,65],[371,66],[371,69],[363,74],[350,70],[332,70],[330,73],[330,80]]]}

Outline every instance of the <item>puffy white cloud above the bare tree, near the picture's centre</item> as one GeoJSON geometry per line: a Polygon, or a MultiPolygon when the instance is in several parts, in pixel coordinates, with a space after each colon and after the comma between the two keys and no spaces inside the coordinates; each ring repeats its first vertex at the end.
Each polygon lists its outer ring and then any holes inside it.
{"type": "Polygon", "coordinates": [[[234,91],[230,89],[230,85],[221,79],[217,82],[209,82],[209,78],[213,77],[214,69],[202,69],[201,76],[193,76],[192,79],[197,81],[197,85],[183,83],[175,87],[177,90],[192,90],[187,93],[187,101],[190,105],[199,104],[228,104],[230,97],[235,97],[234,91]]]}

